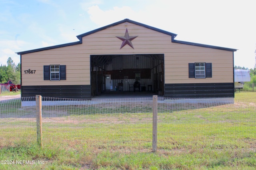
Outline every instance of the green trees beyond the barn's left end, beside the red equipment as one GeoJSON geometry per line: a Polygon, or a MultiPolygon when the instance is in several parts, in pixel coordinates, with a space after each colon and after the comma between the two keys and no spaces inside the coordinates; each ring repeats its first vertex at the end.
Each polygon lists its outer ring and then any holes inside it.
{"type": "Polygon", "coordinates": [[[16,65],[11,57],[7,59],[7,65],[0,66],[0,83],[8,80],[12,80],[13,84],[20,84],[20,63],[16,65]]]}

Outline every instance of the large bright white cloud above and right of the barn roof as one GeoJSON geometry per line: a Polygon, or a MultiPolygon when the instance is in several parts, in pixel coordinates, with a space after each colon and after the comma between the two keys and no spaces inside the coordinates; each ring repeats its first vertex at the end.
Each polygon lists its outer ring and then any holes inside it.
{"type": "Polygon", "coordinates": [[[159,0],[136,11],[129,6],[102,10],[98,5],[86,11],[99,27],[128,18],[176,33],[177,40],[239,49],[234,52],[235,64],[252,68],[256,44],[254,6],[236,0],[159,0]]]}

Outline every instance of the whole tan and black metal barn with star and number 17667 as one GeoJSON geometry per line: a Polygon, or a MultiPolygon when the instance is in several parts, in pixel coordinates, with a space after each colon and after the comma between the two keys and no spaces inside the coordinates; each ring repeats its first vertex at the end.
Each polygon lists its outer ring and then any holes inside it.
{"type": "Polygon", "coordinates": [[[78,35],[77,42],[18,52],[22,97],[87,99],[115,91],[234,98],[236,49],[176,36],[125,19],[78,35]]]}

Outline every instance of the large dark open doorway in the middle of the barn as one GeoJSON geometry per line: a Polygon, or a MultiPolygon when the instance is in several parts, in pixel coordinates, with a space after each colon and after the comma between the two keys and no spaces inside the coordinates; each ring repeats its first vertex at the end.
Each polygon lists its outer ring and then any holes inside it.
{"type": "Polygon", "coordinates": [[[164,54],[91,55],[90,64],[92,96],[134,91],[164,95],[164,54]]]}

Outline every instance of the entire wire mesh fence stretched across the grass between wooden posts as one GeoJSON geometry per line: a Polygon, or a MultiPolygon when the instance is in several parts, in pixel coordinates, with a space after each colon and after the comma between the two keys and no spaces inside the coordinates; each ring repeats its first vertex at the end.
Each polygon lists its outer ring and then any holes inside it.
{"type": "MultiPolygon", "coordinates": [[[[158,98],[160,150],[237,147],[256,138],[256,100],[158,98]],[[254,101],[254,102],[252,102],[254,101]]],[[[152,149],[153,98],[75,100],[42,97],[42,143],[152,149]]],[[[0,101],[0,147],[36,141],[36,98],[0,101]]],[[[95,151],[96,152],[96,151],[95,151]]]]}

